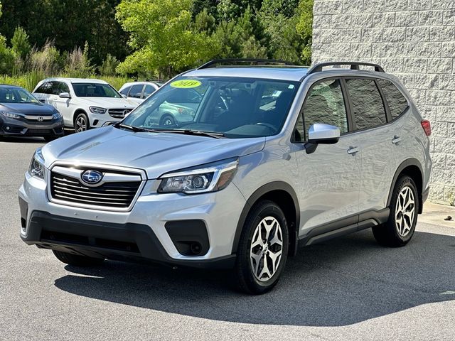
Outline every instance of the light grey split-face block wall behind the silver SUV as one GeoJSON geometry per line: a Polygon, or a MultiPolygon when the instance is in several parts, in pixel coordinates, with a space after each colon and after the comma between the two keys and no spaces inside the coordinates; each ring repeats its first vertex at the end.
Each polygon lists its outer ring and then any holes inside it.
{"type": "Polygon", "coordinates": [[[315,0],[313,63],[378,63],[432,123],[430,200],[455,200],[455,0],[315,0]]]}

